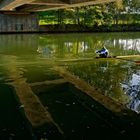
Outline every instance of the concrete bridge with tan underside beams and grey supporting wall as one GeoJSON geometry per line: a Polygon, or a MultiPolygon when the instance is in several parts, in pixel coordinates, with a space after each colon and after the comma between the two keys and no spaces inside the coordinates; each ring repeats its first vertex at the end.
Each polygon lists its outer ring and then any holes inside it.
{"type": "Polygon", "coordinates": [[[0,33],[37,32],[37,12],[104,4],[117,0],[0,0],[0,33]]]}

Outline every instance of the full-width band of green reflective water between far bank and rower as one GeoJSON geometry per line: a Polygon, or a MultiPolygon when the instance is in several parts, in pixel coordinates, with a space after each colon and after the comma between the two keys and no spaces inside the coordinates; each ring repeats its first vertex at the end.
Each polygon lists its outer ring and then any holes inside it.
{"type": "Polygon", "coordinates": [[[106,46],[111,55],[139,54],[139,33],[0,36],[0,53],[16,56],[91,57],[102,46],[106,46]]]}

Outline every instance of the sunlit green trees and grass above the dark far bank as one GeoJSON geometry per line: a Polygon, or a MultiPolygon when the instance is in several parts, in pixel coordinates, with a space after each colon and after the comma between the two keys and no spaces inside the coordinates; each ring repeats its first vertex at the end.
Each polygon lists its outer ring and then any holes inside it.
{"type": "Polygon", "coordinates": [[[109,4],[39,12],[40,23],[100,25],[140,23],[139,0],[117,0],[109,4]]]}

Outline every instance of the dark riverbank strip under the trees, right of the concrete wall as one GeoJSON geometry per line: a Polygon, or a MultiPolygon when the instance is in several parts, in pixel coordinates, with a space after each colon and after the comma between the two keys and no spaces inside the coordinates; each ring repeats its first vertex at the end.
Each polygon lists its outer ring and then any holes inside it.
{"type": "Polygon", "coordinates": [[[67,32],[135,32],[140,31],[139,24],[122,24],[122,25],[101,25],[88,27],[77,24],[55,24],[55,25],[40,25],[39,32],[47,33],[67,33],[67,32]]]}

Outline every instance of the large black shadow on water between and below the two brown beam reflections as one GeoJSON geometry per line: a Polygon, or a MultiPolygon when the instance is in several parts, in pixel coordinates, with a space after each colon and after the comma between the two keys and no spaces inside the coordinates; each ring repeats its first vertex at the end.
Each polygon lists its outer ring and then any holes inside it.
{"type": "Polygon", "coordinates": [[[42,126],[35,130],[38,139],[129,140],[139,136],[138,119],[114,115],[70,83],[32,89],[63,131],[60,136],[55,129],[42,126]]]}

